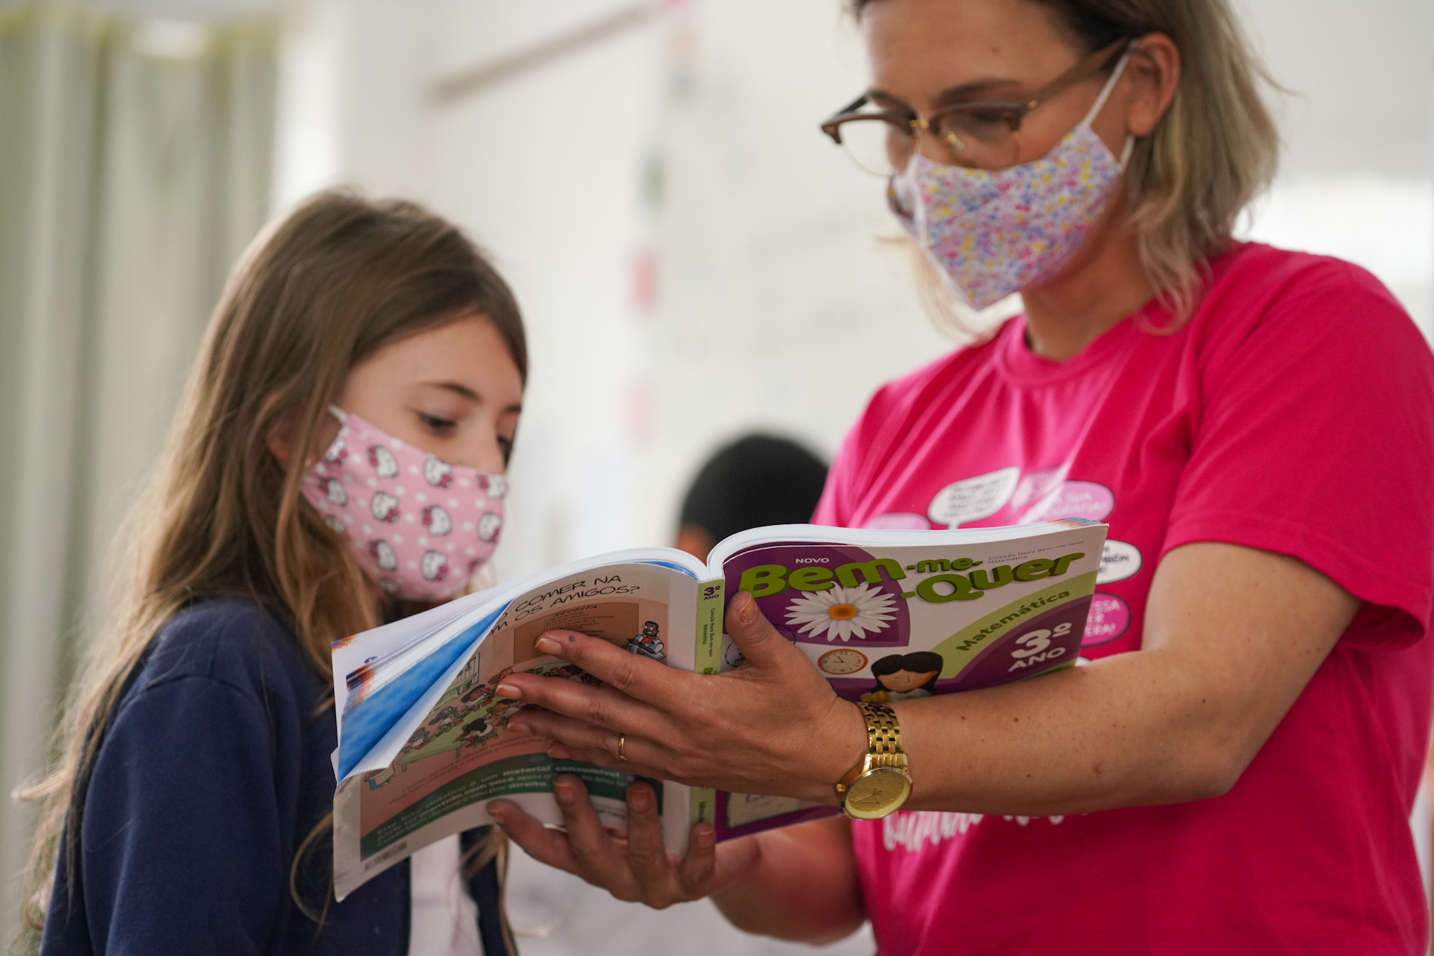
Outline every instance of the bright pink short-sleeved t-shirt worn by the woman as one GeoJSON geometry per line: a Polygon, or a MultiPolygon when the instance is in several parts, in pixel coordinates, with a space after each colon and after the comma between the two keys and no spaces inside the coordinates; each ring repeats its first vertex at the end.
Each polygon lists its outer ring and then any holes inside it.
{"type": "Polygon", "coordinates": [[[855,823],[883,956],[1424,952],[1434,358],[1357,267],[1262,245],[1212,265],[1174,334],[1127,320],[1051,363],[1014,318],[883,387],[815,520],[1108,522],[1088,658],[1140,648],[1156,565],[1190,542],[1293,555],[1365,603],[1223,797],[855,823]]]}

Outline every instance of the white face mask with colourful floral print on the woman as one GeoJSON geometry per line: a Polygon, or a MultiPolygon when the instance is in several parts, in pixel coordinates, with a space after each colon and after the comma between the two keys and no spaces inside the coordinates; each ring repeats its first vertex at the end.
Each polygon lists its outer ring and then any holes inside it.
{"type": "Polygon", "coordinates": [[[906,232],[971,308],[1058,275],[1116,192],[1117,159],[1090,122],[1126,67],[1120,57],[1080,123],[1045,156],[1008,169],[944,166],[919,152],[892,176],[888,201],[906,232]]]}

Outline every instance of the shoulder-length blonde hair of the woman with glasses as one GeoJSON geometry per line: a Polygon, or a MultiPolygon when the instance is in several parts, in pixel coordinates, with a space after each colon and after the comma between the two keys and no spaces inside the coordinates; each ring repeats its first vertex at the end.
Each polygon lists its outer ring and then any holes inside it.
{"type": "MultiPolygon", "coordinates": [[[[852,10],[875,1],[852,0],[852,10]]],[[[1279,136],[1258,89],[1269,76],[1226,0],[1037,3],[1091,52],[1147,33],[1180,52],[1170,109],[1126,168],[1140,264],[1179,324],[1200,298],[1205,262],[1228,248],[1236,216],[1275,175],[1279,136]]]]}

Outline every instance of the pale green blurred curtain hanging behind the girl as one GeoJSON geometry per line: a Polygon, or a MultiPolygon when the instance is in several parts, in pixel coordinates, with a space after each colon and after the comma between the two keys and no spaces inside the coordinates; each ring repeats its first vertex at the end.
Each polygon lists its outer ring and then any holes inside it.
{"type": "MultiPolygon", "coordinates": [[[[267,218],[277,34],[0,7],[0,791],[44,763],[108,539],[267,218]]],[[[29,821],[4,801],[0,943],[29,821]]]]}

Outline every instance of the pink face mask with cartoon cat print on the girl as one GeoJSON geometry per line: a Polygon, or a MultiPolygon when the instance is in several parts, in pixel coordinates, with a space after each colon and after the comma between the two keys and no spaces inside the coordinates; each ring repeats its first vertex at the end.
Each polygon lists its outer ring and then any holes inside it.
{"type": "Polygon", "coordinates": [[[508,480],[449,464],[356,414],[308,466],[304,497],[360,566],[406,601],[447,601],[498,548],[508,480]]]}

